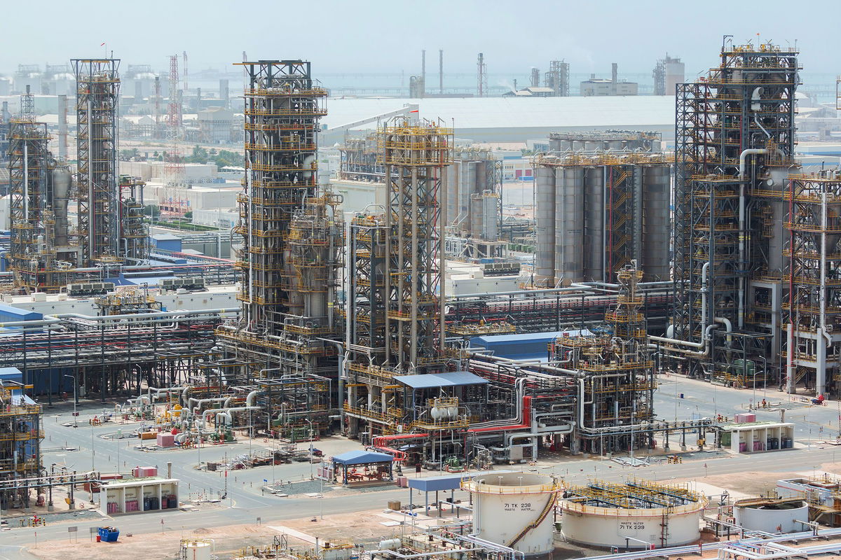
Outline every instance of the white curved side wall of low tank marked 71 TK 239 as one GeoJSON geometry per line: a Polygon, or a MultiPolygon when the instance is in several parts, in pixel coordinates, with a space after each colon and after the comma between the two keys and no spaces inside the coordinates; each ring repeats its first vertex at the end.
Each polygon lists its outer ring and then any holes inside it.
{"type": "Polygon", "coordinates": [[[600,507],[561,500],[563,536],[593,547],[680,547],[701,538],[706,500],[671,508],[600,507]],[[664,527],[664,523],[667,526],[664,527]]]}

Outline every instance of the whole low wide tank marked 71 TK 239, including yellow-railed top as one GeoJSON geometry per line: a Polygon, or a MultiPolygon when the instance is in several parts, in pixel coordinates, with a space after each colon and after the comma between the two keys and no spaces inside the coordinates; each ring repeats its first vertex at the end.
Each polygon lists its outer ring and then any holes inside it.
{"type": "Polygon", "coordinates": [[[678,484],[595,480],[563,494],[563,536],[593,547],[662,548],[696,542],[706,498],[678,484]]]}

